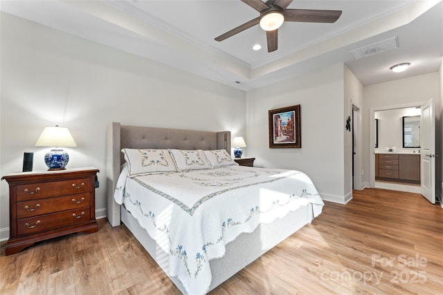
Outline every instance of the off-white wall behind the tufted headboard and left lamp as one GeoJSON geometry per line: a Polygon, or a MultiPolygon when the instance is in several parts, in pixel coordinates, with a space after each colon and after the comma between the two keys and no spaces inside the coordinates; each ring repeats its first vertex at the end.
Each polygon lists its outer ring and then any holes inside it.
{"type": "MultiPolygon", "coordinates": [[[[1,13],[0,174],[47,169],[34,146],[45,126],[66,126],[77,148],[68,167],[96,166],[105,216],[109,122],[246,135],[246,93],[1,13]]],[[[0,182],[0,239],[8,238],[8,184],[0,182]]]]}

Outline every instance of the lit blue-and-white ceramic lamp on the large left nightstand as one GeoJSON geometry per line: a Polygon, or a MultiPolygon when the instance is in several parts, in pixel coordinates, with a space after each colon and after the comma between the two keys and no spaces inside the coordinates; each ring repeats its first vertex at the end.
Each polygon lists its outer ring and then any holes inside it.
{"type": "Polygon", "coordinates": [[[55,146],[54,149],[46,153],[44,162],[48,166],[48,170],[64,170],[69,162],[69,155],[60,147],[74,147],[77,144],[67,128],[55,125],[55,127],[44,129],[35,146],[55,146]]]}

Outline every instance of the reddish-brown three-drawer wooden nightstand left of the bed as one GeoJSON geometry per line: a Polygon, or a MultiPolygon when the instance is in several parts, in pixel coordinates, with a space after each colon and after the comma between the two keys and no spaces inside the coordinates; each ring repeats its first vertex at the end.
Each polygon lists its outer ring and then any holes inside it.
{"type": "Polygon", "coordinates": [[[10,238],[6,255],[35,242],[76,232],[98,231],[94,167],[10,173],[10,238]]]}

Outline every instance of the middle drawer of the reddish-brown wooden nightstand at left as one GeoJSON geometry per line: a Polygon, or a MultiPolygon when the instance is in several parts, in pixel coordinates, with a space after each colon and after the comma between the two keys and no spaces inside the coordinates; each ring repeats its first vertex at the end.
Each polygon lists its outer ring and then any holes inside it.
{"type": "Polygon", "coordinates": [[[28,218],[57,211],[89,206],[89,193],[17,202],[17,218],[28,218]]]}

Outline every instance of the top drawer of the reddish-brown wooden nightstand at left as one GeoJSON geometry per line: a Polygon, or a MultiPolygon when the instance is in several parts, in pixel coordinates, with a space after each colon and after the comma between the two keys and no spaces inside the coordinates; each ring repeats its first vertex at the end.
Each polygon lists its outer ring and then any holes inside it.
{"type": "Polygon", "coordinates": [[[89,178],[17,185],[17,201],[89,192],[89,178]]]}

